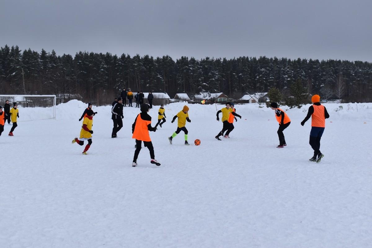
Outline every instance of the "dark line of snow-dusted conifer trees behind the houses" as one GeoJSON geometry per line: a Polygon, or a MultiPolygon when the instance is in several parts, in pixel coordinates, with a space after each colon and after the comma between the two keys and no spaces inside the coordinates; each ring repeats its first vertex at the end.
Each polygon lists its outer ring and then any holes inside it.
{"type": "MultiPolygon", "coordinates": [[[[1,94],[80,94],[85,101],[107,104],[122,88],[132,91],[198,94],[223,92],[239,98],[245,92],[277,89],[291,96],[291,87],[324,99],[371,102],[372,63],[347,60],[267,57],[202,58],[139,54],[20,50],[0,51],[1,94]]],[[[292,90],[293,91],[293,90],[292,90]]]]}

